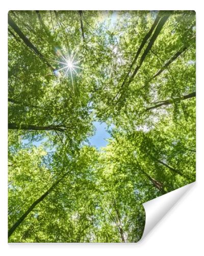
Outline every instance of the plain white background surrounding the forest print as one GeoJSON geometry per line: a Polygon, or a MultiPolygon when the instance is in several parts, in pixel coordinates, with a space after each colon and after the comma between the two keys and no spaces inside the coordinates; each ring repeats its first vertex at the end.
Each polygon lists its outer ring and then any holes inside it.
{"type": "Polygon", "coordinates": [[[202,1],[1,1],[0,13],[0,253],[1,255],[204,255],[203,248],[203,33],[202,1]],[[160,223],[137,244],[8,244],[7,243],[7,13],[9,10],[195,10],[196,11],[196,104],[197,181],[160,223]]]}

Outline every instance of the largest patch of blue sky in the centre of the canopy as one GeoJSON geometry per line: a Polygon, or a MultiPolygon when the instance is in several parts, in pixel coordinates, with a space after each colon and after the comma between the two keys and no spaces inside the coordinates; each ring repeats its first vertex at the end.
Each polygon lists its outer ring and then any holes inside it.
{"type": "Polygon", "coordinates": [[[89,138],[90,144],[97,148],[106,146],[108,144],[108,141],[106,141],[106,139],[111,137],[110,134],[107,132],[107,124],[104,122],[94,122],[93,124],[96,128],[96,131],[95,135],[89,138]]]}

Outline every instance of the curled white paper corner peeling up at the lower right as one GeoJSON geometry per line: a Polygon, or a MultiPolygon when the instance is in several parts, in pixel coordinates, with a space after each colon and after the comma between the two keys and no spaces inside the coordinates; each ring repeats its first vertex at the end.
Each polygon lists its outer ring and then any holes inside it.
{"type": "Polygon", "coordinates": [[[186,186],[175,189],[163,196],[152,199],[142,204],[145,209],[146,220],[144,232],[139,242],[142,242],[144,240],[147,234],[194,185],[195,182],[192,182],[186,186]]]}

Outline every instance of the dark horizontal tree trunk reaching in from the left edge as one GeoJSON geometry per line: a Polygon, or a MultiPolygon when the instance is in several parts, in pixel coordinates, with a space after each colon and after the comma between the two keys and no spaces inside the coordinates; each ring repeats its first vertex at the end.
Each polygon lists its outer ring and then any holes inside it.
{"type": "Polygon", "coordinates": [[[16,123],[9,123],[8,124],[9,130],[31,130],[31,131],[59,131],[63,132],[66,130],[66,127],[49,125],[49,126],[38,126],[38,125],[27,125],[27,124],[16,124],[16,123]]]}

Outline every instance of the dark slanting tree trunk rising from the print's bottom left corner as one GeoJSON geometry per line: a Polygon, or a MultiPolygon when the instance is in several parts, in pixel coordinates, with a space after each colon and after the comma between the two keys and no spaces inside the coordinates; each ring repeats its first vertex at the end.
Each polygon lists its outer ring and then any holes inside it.
{"type": "Polygon", "coordinates": [[[61,179],[59,179],[57,182],[55,182],[41,197],[39,197],[29,208],[27,211],[24,212],[24,214],[14,223],[14,225],[9,229],[8,237],[12,235],[12,233],[16,230],[16,228],[20,225],[20,223],[30,214],[30,212],[38,205],[42,200],[49,195],[50,192],[54,190],[54,188],[64,179],[64,177],[68,174],[66,172],[61,179]]]}

